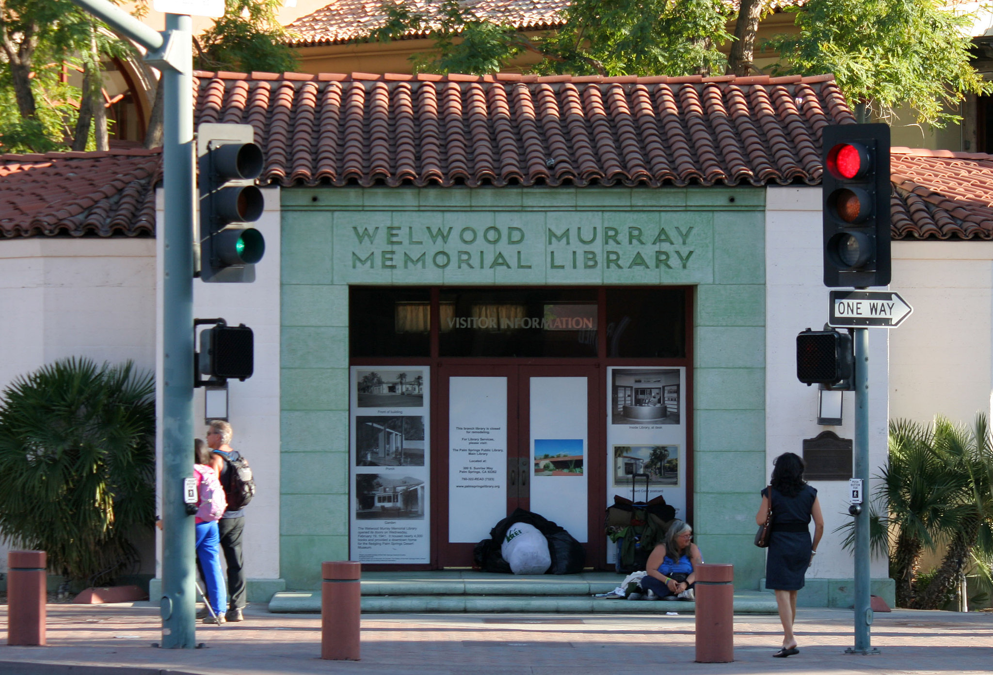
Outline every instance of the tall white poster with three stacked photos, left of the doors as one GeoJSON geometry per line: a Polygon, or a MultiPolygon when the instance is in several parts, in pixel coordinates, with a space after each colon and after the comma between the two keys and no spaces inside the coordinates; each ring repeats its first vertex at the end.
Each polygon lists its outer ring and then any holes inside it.
{"type": "Polygon", "coordinates": [[[351,559],[431,562],[431,381],[426,365],[351,368],[351,559]]]}

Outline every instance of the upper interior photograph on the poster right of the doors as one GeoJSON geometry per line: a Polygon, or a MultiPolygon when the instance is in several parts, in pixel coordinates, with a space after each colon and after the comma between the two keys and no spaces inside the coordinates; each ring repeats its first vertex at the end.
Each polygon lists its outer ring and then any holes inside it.
{"type": "Polygon", "coordinates": [[[611,423],[679,424],[678,368],[614,368],[611,423]]]}

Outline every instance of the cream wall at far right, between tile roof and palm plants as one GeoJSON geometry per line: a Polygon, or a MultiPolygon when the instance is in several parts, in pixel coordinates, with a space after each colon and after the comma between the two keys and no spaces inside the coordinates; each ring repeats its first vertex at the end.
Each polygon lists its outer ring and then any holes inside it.
{"type": "Polygon", "coordinates": [[[993,391],[993,241],[894,241],[914,314],[890,337],[890,414],[971,424],[993,391]]]}

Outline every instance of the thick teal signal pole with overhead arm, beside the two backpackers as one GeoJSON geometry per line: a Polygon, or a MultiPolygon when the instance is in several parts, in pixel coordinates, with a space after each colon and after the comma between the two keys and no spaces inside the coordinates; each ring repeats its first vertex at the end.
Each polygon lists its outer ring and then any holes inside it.
{"type": "MultiPolygon", "coordinates": [[[[194,596],[194,518],[187,514],[184,479],[193,477],[193,34],[187,15],[166,14],[156,33],[106,0],[73,0],[86,12],[149,51],[164,86],[162,241],[162,646],[197,646],[194,596]]],[[[154,599],[153,599],[154,600],[154,599]]]]}

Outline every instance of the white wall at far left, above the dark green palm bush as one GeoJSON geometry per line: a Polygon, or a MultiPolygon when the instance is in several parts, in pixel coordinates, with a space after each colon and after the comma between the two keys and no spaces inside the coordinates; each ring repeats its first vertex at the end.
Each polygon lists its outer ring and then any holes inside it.
{"type": "Polygon", "coordinates": [[[155,240],[0,241],[0,344],[0,389],[67,356],[154,369],[155,240]]]}

